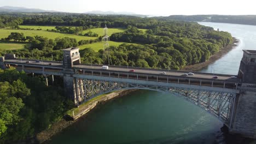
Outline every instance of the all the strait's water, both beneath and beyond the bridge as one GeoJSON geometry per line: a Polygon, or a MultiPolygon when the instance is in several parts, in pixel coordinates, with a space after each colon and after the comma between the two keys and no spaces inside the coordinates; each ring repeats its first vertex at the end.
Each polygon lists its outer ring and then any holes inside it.
{"type": "MultiPolygon", "coordinates": [[[[200,22],[228,31],[239,45],[202,71],[236,75],[242,49],[255,50],[256,26],[200,22]]],[[[102,105],[49,143],[214,143],[216,117],[171,94],[132,92],[102,105]]]]}

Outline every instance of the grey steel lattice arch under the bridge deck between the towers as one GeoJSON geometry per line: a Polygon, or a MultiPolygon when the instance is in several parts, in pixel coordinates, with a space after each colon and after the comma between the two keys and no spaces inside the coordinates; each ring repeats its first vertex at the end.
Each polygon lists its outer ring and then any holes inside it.
{"type": "Polygon", "coordinates": [[[182,97],[216,116],[231,127],[236,93],[205,91],[202,89],[141,85],[105,80],[75,79],[75,101],[87,101],[97,95],[123,89],[147,89],[166,92],[182,97]]]}

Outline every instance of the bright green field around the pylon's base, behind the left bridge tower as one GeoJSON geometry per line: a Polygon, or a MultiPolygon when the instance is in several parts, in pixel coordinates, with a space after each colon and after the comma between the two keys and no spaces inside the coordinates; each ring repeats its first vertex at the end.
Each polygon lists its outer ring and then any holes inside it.
{"type": "MultiPolygon", "coordinates": [[[[109,46],[119,46],[121,44],[123,44],[123,43],[122,42],[109,41],[109,46]]],[[[86,45],[79,45],[78,47],[80,48],[80,50],[91,47],[95,51],[98,51],[100,49],[103,49],[103,43],[98,42],[98,43],[92,43],[92,44],[86,44],[86,45]]]]}

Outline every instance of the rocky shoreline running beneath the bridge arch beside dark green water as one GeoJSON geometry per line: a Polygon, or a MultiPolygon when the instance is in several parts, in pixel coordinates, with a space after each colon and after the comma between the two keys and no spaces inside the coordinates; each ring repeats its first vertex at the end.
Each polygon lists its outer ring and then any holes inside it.
{"type": "MultiPolygon", "coordinates": [[[[79,106],[75,109],[80,109],[79,112],[75,113],[74,116],[66,115],[61,121],[53,123],[51,128],[41,131],[36,135],[36,141],[38,143],[47,143],[47,141],[51,140],[51,137],[60,133],[63,129],[66,129],[70,125],[79,121],[80,118],[86,117],[91,110],[96,109],[98,106],[110,101],[115,98],[123,97],[131,92],[137,91],[137,89],[128,89],[128,90],[120,90],[118,92],[112,92],[108,94],[102,94],[102,97],[98,95],[100,98],[92,99],[89,103],[85,103],[83,106],[79,106]]],[[[97,97],[95,97],[97,98],[97,97]]]]}

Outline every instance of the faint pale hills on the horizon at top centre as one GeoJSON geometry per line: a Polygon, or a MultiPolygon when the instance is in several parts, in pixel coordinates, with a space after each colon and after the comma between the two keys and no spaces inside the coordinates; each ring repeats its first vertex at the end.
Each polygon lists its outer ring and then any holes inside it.
{"type": "Polygon", "coordinates": [[[115,11],[101,11],[101,10],[92,10],[92,11],[87,11],[84,14],[97,14],[97,15],[132,15],[132,16],[148,16],[148,15],[140,15],[136,13],[131,13],[127,11],[121,11],[121,12],[115,12],[115,11]]]}

